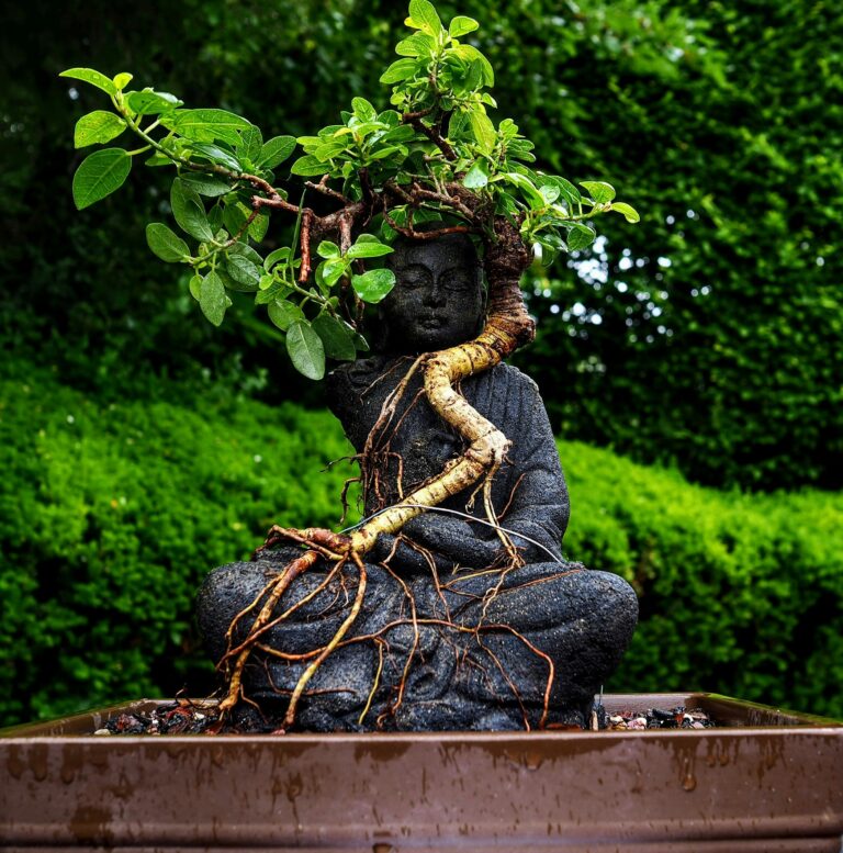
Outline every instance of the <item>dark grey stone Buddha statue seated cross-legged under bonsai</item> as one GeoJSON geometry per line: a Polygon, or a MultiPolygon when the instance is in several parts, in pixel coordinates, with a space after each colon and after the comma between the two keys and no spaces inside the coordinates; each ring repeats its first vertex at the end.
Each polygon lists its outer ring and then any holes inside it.
{"type": "MultiPolygon", "coordinates": [[[[368,457],[367,516],[462,452],[460,436],[420,393],[420,371],[404,383],[387,423],[381,413],[418,353],[473,338],[483,319],[481,267],[464,235],[398,239],[390,266],[396,285],[380,306],[375,355],[329,378],[331,409],[368,457]]],[[[536,384],[502,363],[460,391],[512,440],[491,489],[510,547],[475,489],[411,520],[397,537],[382,536],[366,555],[361,613],[299,706],[304,730],[585,725],[629,644],[638,616],[629,584],[562,558],[567,489],[536,384]]],[[[300,553],[282,547],[209,576],[198,617],[214,660],[226,651],[235,616],[300,553]]],[[[302,575],[282,597],[278,613],[293,610],[262,644],[284,656],[256,650],[247,664],[246,695],[270,726],[306,665],[295,655],[327,643],[351,606],[355,566],[333,577],[329,569],[302,575]]],[[[243,621],[235,640],[247,628],[243,621]]]]}

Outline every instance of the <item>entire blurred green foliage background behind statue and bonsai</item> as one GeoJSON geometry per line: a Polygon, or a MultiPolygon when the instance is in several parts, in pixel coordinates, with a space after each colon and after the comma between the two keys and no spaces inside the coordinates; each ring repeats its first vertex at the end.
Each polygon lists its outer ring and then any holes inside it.
{"type": "MultiPolygon", "coordinates": [[[[564,440],[566,550],[641,595],[606,688],[843,716],[843,11],[437,5],[481,22],[496,117],[536,143],[537,167],[608,180],[642,213],[602,218],[593,251],[531,272],[539,336],[517,359],[564,440]]],[[[210,689],[199,580],[273,520],[336,523],[347,475],[316,473],[341,434],[263,318],[237,303],[214,329],[148,251],[166,176],[75,211],[72,126],[102,104],[58,72],[128,70],[300,135],[353,94],[385,104],[403,18],[381,0],[7,10],[0,723],[210,689]]]]}

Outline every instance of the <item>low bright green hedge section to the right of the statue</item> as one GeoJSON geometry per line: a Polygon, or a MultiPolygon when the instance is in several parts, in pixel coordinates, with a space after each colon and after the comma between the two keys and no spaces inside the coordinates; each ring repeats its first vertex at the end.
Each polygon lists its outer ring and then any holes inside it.
{"type": "Polygon", "coordinates": [[[636,587],[612,692],[706,689],[843,717],[843,496],[742,495],[561,444],[565,548],[636,587]]]}

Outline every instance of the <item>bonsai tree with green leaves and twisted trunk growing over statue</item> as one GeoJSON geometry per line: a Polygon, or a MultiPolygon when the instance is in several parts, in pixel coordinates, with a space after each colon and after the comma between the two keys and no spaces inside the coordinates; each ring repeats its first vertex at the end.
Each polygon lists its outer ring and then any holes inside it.
{"type": "MultiPolygon", "coordinates": [[[[488,92],[494,71],[465,41],[476,21],[458,15],[446,27],[428,0],[411,0],[405,23],[412,32],[396,45],[400,58],[381,76],[391,87],[390,106],[379,110],[366,98],[353,98],[337,123],[297,139],[265,141],[243,116],[190,109],[153,88],[127,91],[132,75],[126,72],[108,77],[71,68],[63,74],[102,90],[111,108],[77,123],[77,147],[108,146],[79,166],[72,183],[77,207],[116,191],[138,159],[173,168],[170,206],[181,234],[150,223],[149,248],[166,262],[191,268],[190,292],[214,325],[232,304],[228,291],[254,293],[255,304],[266,306],[270,322],[284,333],[292,363],[310,379],[324,377],[326,359],[353,360],[368,349],[366,310],[395,283],[382,259],[396,235],[430,240],[462,233],[482,246],[488,288],[482,332],[471,341],[420,355],[406,378],[423,373],[427,402],[464,439],[465,451],[439,476],[350,535],[278,526],[269,531],[265,548],[284,540],[306,550],[269,582],[246,640],[229,644],[221,662],[227,683],[223,712],[241,697],[244,666],[276,618],[276,604],[319,558],[356,565],[359,584],[341,627],[299,680],[285,726],[293,722],[307,682],[357,618],[366,590],[362,558],[378,537],[398,532],[409,519],[470,486],[488,495],[509,440],[460,394],[460,380],[488,370],[532,339],[520,279],[533,256],[549,265],[560,252],[585,249],[595,238],[591,221],[600,214],[639,218],[629,204],[615,201],[606,182],[576,187],[532,169],[533,145],[518,125],[504,119],[495,126],[487,114],[496,106],[488,92]],[[112,145],[124,134],[137,137],[138,147],[112,145]],[[299,147],[289,172],[301,187],[291,192],[280,186],[280,178],[290,186],[281,170],[286,171],[299,147]],[[317,214],[310,206],[317,195],[324,197],[321,207],[327,202],[333,212],[317,214]],[[263,254],[272,214],[294,223],[293,236],[290,245],[263,254]],[[437,224],[431,227],[431,222],[437,224]]],[[[390,417],[389,408],[382,418],[390,417]]],[[[370,485],[366,454],[361,471],[364,486],[370,485]]],[[[510,564],[517,565],[517,549],[497,524],[491,501],[485,505],[510,564]]]]}

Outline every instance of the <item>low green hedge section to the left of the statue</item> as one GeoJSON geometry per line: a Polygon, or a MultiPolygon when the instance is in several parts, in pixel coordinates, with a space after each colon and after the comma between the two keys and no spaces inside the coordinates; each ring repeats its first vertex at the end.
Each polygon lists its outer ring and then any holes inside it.
{"type": "Polygon", "coordinates": [[[100,404],[19,375],[0,382],[1,719],[209,691],[202,577],[276,521],[337,523],[349,467],[321,469],[349,452],[341,430],[218,390],[100,404]]]}

